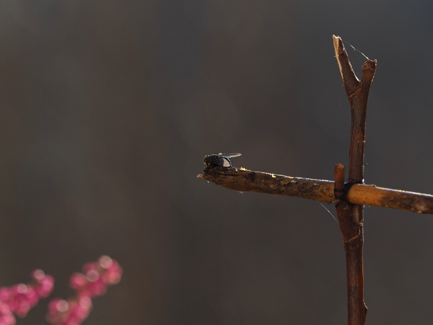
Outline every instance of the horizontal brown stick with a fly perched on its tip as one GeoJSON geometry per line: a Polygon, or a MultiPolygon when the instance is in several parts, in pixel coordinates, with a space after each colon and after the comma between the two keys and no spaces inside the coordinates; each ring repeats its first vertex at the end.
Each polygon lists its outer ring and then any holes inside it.
{"type": "MultiPolygon", "coordinates": [[[[253,172],[235,167],[206,168],[204,175],[197,177],[235,191],[288,195],[326,203],[335,200],[334,182],[322,179],[253,172]]],[[[376,185],[355,184],[349,189],[346,199],[353,204],[433,214],[433,195],[399,191],[376,185]]]]}

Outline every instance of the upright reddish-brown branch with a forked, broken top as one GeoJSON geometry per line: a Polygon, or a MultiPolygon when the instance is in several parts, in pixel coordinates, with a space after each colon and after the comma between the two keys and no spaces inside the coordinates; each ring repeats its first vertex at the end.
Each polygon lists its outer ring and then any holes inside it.
{"type": "MultiPolygon", "coordinates": [[[[343,78],[352,115],[349,147],[349,184],[351,182],[363,182],[365,120],[367,117],[368,94],[376,70],[376,60],[367,60],[364,63],[362,66],[362,78],[359,81],[353,72],[343,41],[336,36],[333,36],[333,40],[335,56],[343,78]]],[[[335,169],[335,181],[337,183],[338,177],[339,188],[341,188],[341,169],[343,169],[344,175],[344,166],[341,165],[343,168],[341,166],[337,168],[337,166],[335,169]]],[[[346,186],[344,192],[347,192],[347,190],[348,187],[346,186]]],[[[364,272],[362,266],[364,243],[363,205],[348,203],[343,197],[340,196],[339,198],[339,195],[336,195],[336,198],[338,198],[336,200],[337,215],[339,220],[341,219],[340,228],[344,250],[346,251],[348,324],[364,325],[367,307],[364,303],[364,272]],[[355,234],[355,236],[352,237],[351,234],[355,234]]]]}

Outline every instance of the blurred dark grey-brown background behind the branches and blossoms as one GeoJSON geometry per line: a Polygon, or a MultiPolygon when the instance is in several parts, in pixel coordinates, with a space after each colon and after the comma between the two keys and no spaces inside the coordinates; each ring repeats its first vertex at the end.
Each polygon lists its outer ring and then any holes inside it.
{"type": "MultiPolygon", "coordinates": [[[[0,286],[83,263],[122,281],[84,324],[345,324],[339,227],[316,201],[209,186],[203,156],[333,179],[355,72],[378,60],[365,182],[433,194],[431,1],[2,0],[0,286]]],[[[360,74],[358,74],[360,76],[360,74]]],[[[326,206],[334,215],[333,205],[326,206]]],[[[368,324],[427,324],[433,216],[365,208],[368,324]]]]}

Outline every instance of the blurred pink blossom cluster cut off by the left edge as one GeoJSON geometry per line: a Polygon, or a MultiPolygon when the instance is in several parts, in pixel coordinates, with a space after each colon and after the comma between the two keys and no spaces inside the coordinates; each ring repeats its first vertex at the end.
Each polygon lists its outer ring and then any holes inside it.
{"type": "Polygon", "coordinates": [[[16,284],[0,288],[0,325],[15,324],[15,316],[26,317],[40,298],[47,297],[54,289],[54,279],[42,270],[32,272],[33,283],[16,284]]]}

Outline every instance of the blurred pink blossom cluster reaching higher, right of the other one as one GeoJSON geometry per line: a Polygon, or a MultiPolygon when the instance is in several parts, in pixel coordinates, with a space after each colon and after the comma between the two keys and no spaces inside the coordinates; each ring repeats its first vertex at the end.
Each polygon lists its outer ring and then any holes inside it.
{"type": "MultiPolygon", "coordinates": [[[[122,268],[110,257],[86,263],[84,273],[74,273],[69,286],[75,295],[68,300],[53,299],[48,305],[47,322],[52,325],[80,325],[92,310],[92,299],[107,292],[107,287],[119,283],[122,268]]],[[[1,325],[1,324],[0,324],[1,325]]]]}

